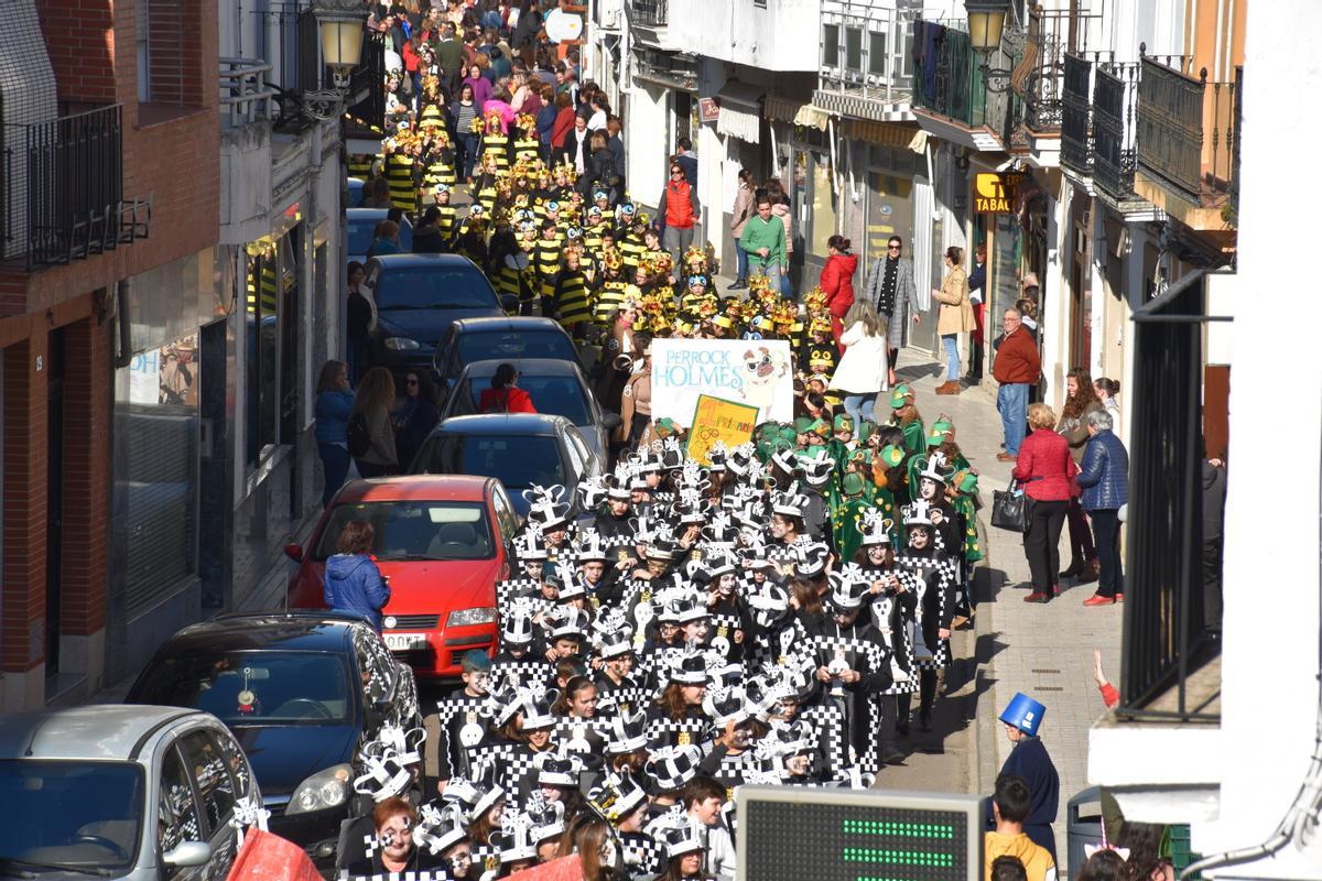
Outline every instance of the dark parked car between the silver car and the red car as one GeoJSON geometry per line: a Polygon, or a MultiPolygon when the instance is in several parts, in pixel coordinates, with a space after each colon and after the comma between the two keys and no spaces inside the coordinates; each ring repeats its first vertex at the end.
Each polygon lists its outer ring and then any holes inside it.
{"type": "Polygon", "coordinates": [[[422,725],[412,671],[365,621],[327,612],[221,616],[156,651],[124,699],[193,707],[253,765],[271,831],[330,857],[340,824],[370,811],[353,781],[385,724],[422,725]]]}

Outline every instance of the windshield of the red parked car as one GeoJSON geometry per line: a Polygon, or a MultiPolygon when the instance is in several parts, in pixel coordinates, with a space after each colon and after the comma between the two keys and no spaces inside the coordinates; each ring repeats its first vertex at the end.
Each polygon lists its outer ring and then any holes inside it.
{"type": "Polygon", "coordinates": [[[489,560],[494,555],[486,506],[481,502],[350,502],[330,510],[313,560],[336,553],[340,532],[353,520],[371,524],[377,560],[489,560]]]}

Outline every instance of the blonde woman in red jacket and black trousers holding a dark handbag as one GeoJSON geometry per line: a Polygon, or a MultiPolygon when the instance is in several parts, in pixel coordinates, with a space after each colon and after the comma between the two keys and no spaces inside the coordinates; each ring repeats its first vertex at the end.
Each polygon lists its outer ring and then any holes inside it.
{"type": "Polygon", "coordinates": [[[1014,479],[1032,499],[1023,536],[1023,555],[1032,573],[1032,593],[1025,602],[1050,602],[1060,596],[1060,527],[1069,510],[1071,487],[1079,468],[1069,444],[1055,432],[1056,415],[1046,404],[1029,407],[1032,433],[1019,446],[1014,479]]]}

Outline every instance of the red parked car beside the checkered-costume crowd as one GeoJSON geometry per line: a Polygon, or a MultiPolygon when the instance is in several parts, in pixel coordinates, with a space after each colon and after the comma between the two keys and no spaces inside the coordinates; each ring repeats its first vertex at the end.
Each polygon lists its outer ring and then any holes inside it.
{"type": "Polygon", "coordinates": [[[494,652],[496,582],[509,577],[518,527],[500,481],[408,476],[346,483],[307,548],[284,548],[300,564],[290,580],[291,609],[325,608],[325,561],[353,520],[371,524],[373,555],[390,584],[382,635],[419,679],[457,678],[465,651],[494,652]]]}

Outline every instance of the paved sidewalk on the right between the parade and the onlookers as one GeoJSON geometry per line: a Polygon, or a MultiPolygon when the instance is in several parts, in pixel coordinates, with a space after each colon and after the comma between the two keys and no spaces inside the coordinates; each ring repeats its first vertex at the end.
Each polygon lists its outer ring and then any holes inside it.
{"type": "MultiPolygon", "coordinates": [[[[923,353],[906,350],[899,375],[917,394],[917,408],[931,425],[940,413],[952,417],[956,440],[980,473],[984,560],[974,571],[980,597],[977,614],[977,682],[970,691],[977,705],[976,773],[970,787],[990,794],[995,775],[1010,753],[1010,742],[997,716],[1017,691],[1047,707],[1042,740],[1060,773],[1060,812],[1056,818],[1056,853],[1067,859],[1067,803],[1088,787],[1088,729],[1105,709],[1092,683],[1092,650],[1100,649],[1112,679],[1120,674],[1122,606],[1085,609],[1095,585],[1066,581],[1062,596],[1044,605],[1023,602],[1029,564],[1018,535],[990,528],[992,491],[1010,481],[1013,464],[998,462],[1003,437],[995,409],[994,384],[968,388],[960,395],[933,392],[937,363],[923,353]]],[[[1069,560],[1068,528],[1062,530],[1062,567],[1069,560]]],[[[1062,872],[1075,866],[1062,866],[1062,872]]]]}

